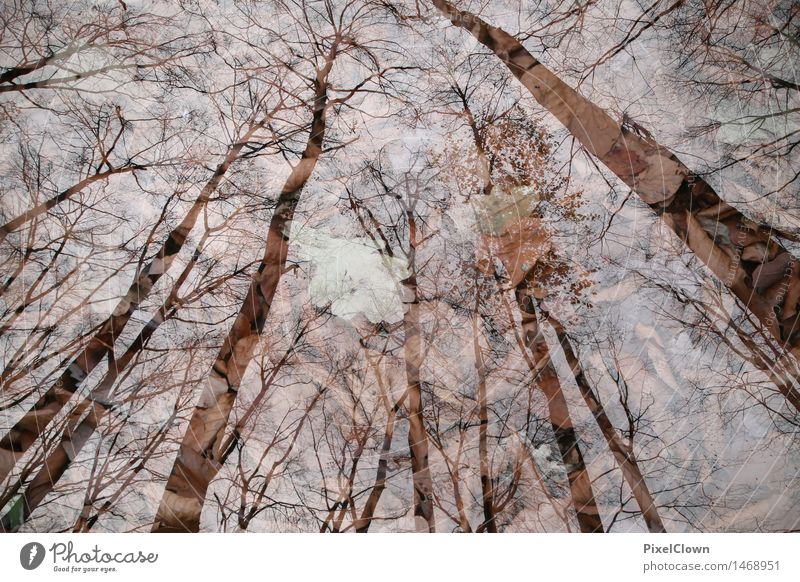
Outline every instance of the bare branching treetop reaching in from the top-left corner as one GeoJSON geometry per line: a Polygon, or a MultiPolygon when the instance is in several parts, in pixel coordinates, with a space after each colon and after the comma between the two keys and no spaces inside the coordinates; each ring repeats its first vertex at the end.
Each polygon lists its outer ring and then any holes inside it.
{"type": "Polygon", "coordinates": [[[182,58],[210,50],[180,11],[146,12],[124,2],[55,6],[15,0],[2,17],[0,93],[91,90],[126,78],[180,79],[182,58]],[[189,26],[187,26],[189,25],[189,26]]]}

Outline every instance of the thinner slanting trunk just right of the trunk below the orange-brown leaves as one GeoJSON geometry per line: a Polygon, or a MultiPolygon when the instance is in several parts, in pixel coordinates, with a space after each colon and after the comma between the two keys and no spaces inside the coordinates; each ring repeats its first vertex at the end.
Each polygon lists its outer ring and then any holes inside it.
{"type": "Polygon", "coordinates": [[[603,437],[606,439],[606,443],[608,443],[608,448],[611,449],[614,459],[616,459],[617,464],[622,471],[622,476],[624,477],[625,482],[628,484],[628,487],[630,487],[631,493],[633,494],[634,499],[636,499],[636,503],[639,504],[639,508],[642,511],[642,517],[647,524],[647,529],[650,530],[651,533],[666,532],[667,530],[664,528],[664,522],[661,520],[661,516],[658,513],[658,506],[656,505],[655,500],[650,493],[650,489],[647,487],[647,482],[645,481],[644,476],[639,469],[639,462],[636,459],[633,447],[623,440],[622,436],[619,434],[619,431],[617,431],[617,429],[611,423],[611,420],[608,418],[605,408],[603,407],[603,403],[600,401],[600,398],[597,396],[597,394],[595,394],[595,391],[592,389],[589,381],[586,379],[586,376],[583,373],[583,367],[581,366],[580,360],[578,360],[575,351],[572,349],[572,342],[570,342],[569,337],[564,331],[561,323],[547,311],[542,310],[541,307],[540,310],[556,332],[556,336],[561,344],[561,348],[564,350],[564,356],[566,357],[567,364],[569,365],[570,370],[575,377],[575,382],[578,384],[578,388],[581,391],[581,396],[583,396],[586,406],[592,411],[592,415],[594,415],[594,418],[597,421],[597,426],[600,427],[600,432],[603,433],[603,437]]]}

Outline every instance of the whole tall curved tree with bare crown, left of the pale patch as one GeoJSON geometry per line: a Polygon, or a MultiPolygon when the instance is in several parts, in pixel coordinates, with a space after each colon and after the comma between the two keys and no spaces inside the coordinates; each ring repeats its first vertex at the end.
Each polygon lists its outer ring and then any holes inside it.
{"type": "MultiPolygon", "coordinates": [[[[311,53],[301,52],[299,57],[294,57],[305,66],[310,65],[313,71],[306,78],[309,85],[307,90],[311,93],[308,141],[278,196],[269,224],[264,257],[189,421],[178,458],[167,480],[153,531],[196,531],[199,527],[208,484],[219,470],[220,436],[225,430],[241,378],[250,363],[253,348],[264,328],[286,268],[288,233],[295,209],[323,153],[328,109],[346,105],[354,95],[373,85],[380,86],[388,72],[380,65],[380,43],[359,36],[359,33],[366,35],[371,32],[368,27],[366,30],[361,27],[362,22],[372,18],[369,11],[362,12],[353,2],[345,2],[341,6],[329,2],[323,4],[326,11],[315,14],[319,22],[304,21],[309,16],[307,13],[294,16],[294,24],[301,27],[300,34],[310,35],[316,41],[310,49],[311,53]],[[350,60],[361,65],[362,56],[372,63],[368,75],[352,86],[332,82],[330,76],[335,62],[350,60]],[[329,91],[335,91],[335,94],[331,96],[329,91]]],[[[281,6],[291,14],[290,6],[281,6]]],[[[251,22],[255,24],[256,21],[251,22]]],[[[292,43],[302,44],[303,40],[287,41],[286,49],[294,55],[292,43]]],[[[290,68],[293,66],[290,65],[290,68]]]]}

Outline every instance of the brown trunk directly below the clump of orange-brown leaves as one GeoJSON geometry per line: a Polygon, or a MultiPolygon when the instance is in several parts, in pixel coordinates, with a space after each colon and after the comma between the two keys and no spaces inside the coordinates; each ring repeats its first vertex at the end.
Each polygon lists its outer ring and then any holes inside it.
{"type": "Polygon", "coordinates": [[[572,504],[578,517],[582,532],[602,533],[603,522],[597,508],[592,489],[592,480],[586,469],[572,418],[567,406],[561,382],[550,359],[547,341],[541,333],[536,315],[535,298],[530,284],[531,274],[516,288],[517,303],[522,316],[522,332],[527,348],[533,355],[536,374],[534,378],[547,398],[550,422],[556,437],[556,444],[567,471],[572,504]]]}

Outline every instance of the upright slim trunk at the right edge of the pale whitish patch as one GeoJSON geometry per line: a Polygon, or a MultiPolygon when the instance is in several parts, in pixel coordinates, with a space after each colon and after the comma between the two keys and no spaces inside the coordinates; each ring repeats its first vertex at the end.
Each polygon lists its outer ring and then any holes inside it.
{"type": "Polygon", "coordinates": [[[418,532],[436,531],[433,515],[433,482],[428,467],[428,432],[422,416],[422,330],[419,320],[419,295],[417,290],[416,245],[417,226],[413,211],[406,212],[409,229],[409,276],[401,281],[404,290],[403,353],[406,366],[408,396],[408,447],[411,453],[411,471],[414,485],[414,524],[418,532]]]}

